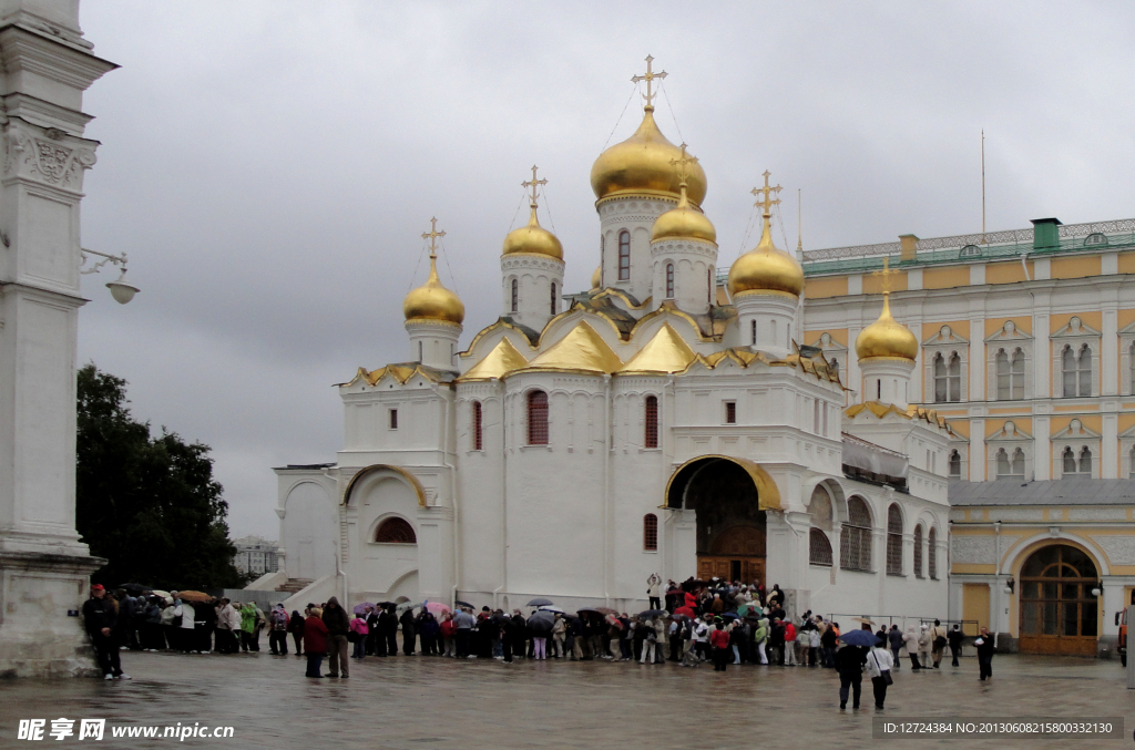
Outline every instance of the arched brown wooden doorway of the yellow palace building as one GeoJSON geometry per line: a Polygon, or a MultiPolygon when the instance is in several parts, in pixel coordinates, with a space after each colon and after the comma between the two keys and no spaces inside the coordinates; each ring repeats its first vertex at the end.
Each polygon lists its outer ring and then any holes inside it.
{"type": "Polygon", "coordinates": [[[1020,567],[1022,651],[1095,655],[1100,633],[1095,563],[1070,545],[1041,547],[1020,567]]]}

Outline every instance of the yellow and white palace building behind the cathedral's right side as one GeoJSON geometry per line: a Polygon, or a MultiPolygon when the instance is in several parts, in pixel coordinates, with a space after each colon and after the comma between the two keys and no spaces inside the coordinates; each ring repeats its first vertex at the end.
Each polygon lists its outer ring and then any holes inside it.
{"type": "Polygon", "coordinates": [[[953,432],[950,617],[1110,654],[1135,588],[1135,219],[1032,224],[804,252],[804,343],[860,390],[849,347],[890,285],[920,340],[909,402],[953,432]]]}

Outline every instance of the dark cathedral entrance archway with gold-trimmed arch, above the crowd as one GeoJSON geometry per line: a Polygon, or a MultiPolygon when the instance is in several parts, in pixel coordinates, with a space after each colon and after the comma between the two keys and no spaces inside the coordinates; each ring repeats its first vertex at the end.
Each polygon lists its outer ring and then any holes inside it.
{"type": "Polygon", "coordinates": [[[697,576],[765,582],[765,511],[780,508],[780,492],[757,464],[701,456],[674,472],[666,505],[697,515],[697,576]]]}

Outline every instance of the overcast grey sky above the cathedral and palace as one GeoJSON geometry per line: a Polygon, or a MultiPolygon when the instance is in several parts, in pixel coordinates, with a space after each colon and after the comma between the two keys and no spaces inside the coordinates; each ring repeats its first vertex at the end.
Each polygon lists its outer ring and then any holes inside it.
{"type": "Polygon", "coordinates": [[[1130,3],[83,0],[82,25],[121,66],[84,101],[83,244],[127,252],[142,293],[84,277],[79,361],[212,446],[234,537],[277,538],[272,466],[335,460],[331,385],[410,359],[430,217],[463,345],[499,314],[532,163],[588,286],[591,162],[638,126],[648,53],[723,267],[765,169],[791,246],[798,188],[806,250],[978,231],[982,128],[991,230],[1135,216],[1130,3]]]}

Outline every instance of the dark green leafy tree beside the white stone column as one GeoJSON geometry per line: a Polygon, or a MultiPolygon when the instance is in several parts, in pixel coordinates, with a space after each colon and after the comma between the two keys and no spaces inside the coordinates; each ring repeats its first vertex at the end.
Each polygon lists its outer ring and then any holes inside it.
{"type": "Polygon", "coordinates": [[[209,446],[131,415],[126,381],[78,371],[76,526],[109,563],[92,580],[157,589],[237,587],[228,503],[209,446]]]}

